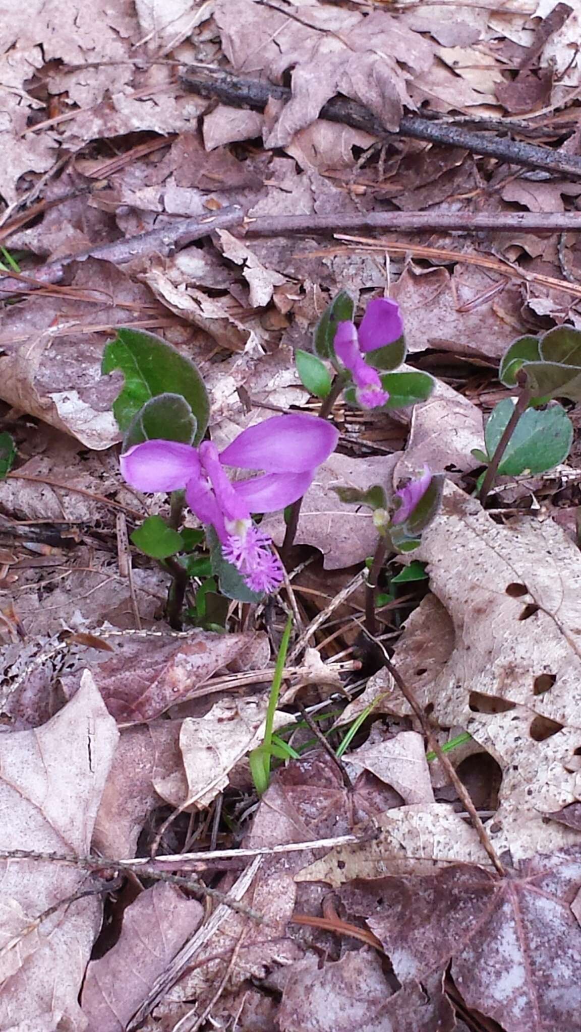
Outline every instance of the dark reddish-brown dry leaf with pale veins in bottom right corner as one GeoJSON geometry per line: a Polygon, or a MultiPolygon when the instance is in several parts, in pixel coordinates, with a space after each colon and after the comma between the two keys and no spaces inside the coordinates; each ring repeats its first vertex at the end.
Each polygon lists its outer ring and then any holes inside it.
{"type": "Polygon", "coordinates": [[[581,851],[537,856],[498,878],[471,865],[344,885],[402,983],[451,973],[468,1007],[506,1032],[579,1032],[581,851]]]}

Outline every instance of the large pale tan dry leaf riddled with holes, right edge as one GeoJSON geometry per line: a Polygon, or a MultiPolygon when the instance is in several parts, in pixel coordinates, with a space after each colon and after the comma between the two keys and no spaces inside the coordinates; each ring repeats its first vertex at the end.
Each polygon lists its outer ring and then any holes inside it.
{"type": "MultiPolygon", "coordinates": [[[[496,848],[520,859],[570,843],[572,833],[543,814],[581,798],[579,550],[550,519],[498,525],[448,483],[415,555],[428,563],[454,647],[444,663],[427,662],[427,640],[418,652],[424,610],[408,621],[394,664],[440,727],[464,728],[500,765],[496,848]]],[[[391,692],[395,712],[408,712],[383,674],[374,687],[391,692]]]]}

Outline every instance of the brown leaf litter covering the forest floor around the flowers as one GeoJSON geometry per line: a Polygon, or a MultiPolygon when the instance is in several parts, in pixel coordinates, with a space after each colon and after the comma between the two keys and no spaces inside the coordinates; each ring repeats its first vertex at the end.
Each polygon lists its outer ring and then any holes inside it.
{"type": "Polygon", "coordinates": [[[569,458],[501,466],[488,511],[472,454],[511,342],[580,325],[578,12],[33,6],[0,42],[0,1028],[581,1029],[577,407],[569,458]],[[399,301],[434,392],[336,400],[280,591],[224,599],[194,552],[178,633],[171,567],[130,543],[170,509],[120,478],[104,346],[195,361],[223,450],[316,414],[294,353],[344,289],[358,319],[399,301]],[[442,507],[380,571],[377,644],[376,513],[337,488],[392,504],[425,464],[442,507]]]}

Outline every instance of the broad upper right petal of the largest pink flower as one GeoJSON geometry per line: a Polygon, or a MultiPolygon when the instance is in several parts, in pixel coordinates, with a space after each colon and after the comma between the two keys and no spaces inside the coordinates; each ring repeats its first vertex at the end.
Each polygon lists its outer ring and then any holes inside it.
{"type": "Polygon", "coordinates": [[[317,416],[273,416],[243,430],[221,452],[220,462],[266,473],[305,473],[329,458],[338,440],[335,427],[317,416]]]}

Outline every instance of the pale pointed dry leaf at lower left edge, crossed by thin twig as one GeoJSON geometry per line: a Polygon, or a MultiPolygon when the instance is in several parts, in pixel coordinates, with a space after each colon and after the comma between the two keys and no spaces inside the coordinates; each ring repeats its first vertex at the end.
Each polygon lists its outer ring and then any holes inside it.
{"type": "MultiPolygon", "coordinates": [[[[86,856],[118,732],[89,671],[43,727],[0,735],[0,847],[86,856]]],[[[2,861],[0,1028],[84,1032],[78,1003],[101,924],[87,872],[49,861],[2,861]],[[39,923],[49,907],[62,902],[39,923]]]]}

